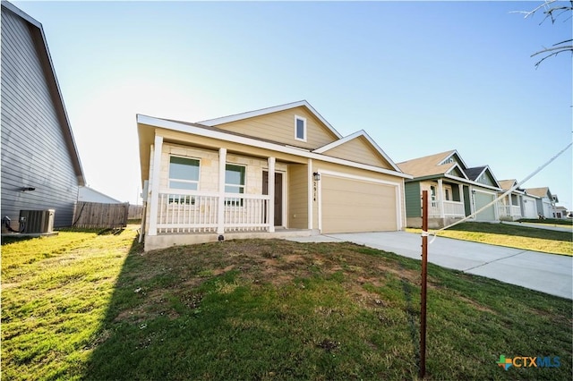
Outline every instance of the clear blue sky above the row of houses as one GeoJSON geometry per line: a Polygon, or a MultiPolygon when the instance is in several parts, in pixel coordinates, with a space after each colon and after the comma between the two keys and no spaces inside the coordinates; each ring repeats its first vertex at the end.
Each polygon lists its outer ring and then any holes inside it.
{"type": "MultiPolygon", "coordinates": [[[[571,38],[541,2],[21,2],[40,21],[88,184],[141,191],[135,114],[187,122],[301,99],[395,162],[458,149],[518,181],[571,141],[571,38]]],[[[526,183],[572,209],[571,149],[526,183]]]]}

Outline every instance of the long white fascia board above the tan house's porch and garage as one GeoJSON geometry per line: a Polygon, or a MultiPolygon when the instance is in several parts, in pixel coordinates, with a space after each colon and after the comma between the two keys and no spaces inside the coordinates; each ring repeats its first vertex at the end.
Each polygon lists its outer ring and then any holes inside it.
{"type": "Polygon", "coordinates": [[[289,155],[294,155],[297,157],[305,157],[305,158],[312,158],[315,160],[326,161],[329,163],[339,164],[339,165],[346,165],[351,166],[354,168],[365,169],[372,172],[377,172],[379,174],[391,174],[394,176],[402,177],[405,179],[411,179],[412,176],[409,174],[402,174],[401,172],[390,171],[389,169],[380,168],[374,165],[365,165],[360,163],[355,163],[353,161],[340,159],[338,157],[329,157],[326,155],[316,154],[314,152],[306,152],[297,148],[290,148],[286,146],[281,146],[279,144],[270,143],[267,141],[255,140],[252,138],[242,137],[227,134],[226,132],[222,131],[212,131],[207,130],[201,127],[191,126],[187,124],[175,123],[171,121],[166,121],[163,119],[154,118],[152,116],[141,115],[137,114],[137,123],[140,124],[147,124],[153,127],[163,128],[171,131],[178,131],[184,133],[190,133],[193,135],[199,135],[206,138],[212,138],[217,140],[227,140],[233,141],[235,143],[244,144],[246,146],[257,147],[257,148],[265,148],[281,153],[286,153],[289,155]]]}

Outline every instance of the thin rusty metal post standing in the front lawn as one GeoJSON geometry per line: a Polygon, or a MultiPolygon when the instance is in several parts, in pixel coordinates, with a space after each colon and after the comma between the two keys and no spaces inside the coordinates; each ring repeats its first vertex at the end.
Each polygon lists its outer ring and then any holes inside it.
{"type": "Polygon", "coordinates": [[[420,302],[420,378],[426,373],[426,286],[428,273],[428,190],[422,191],[422,301],[420,302]]]}

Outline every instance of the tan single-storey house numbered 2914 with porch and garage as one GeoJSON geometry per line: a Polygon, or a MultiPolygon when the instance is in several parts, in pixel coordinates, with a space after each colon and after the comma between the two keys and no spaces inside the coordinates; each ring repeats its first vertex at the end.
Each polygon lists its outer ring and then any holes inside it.
{"type": "Polygon", "coordinates": [[[146,250],[219,234],[405,226],[411,176],[365,131],[342,137],[304,100],[201,123],[137,115],[137,124],[146,250]]]}

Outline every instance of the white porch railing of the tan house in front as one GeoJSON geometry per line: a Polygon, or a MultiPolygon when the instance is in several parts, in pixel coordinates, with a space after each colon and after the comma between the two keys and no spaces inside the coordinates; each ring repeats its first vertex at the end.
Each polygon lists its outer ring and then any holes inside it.
{"type": "MultiPolygon", "coordinates": [[[[226,193],[223,226],[226,232],[269,230],[269,196],[226,193]]],[[[159,193],[158,233],[217,233],[219,195],[180,190],[159,193]]]]}

